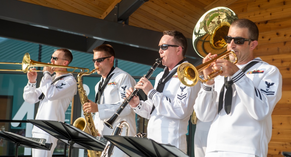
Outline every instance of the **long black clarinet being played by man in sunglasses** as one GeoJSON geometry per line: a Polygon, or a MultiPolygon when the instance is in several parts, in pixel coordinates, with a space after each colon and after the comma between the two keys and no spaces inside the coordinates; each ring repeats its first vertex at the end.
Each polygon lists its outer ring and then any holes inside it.
{"type": "MultiPolygon", "coordinates": [[[[149,79],[150,76],[152,75],[152,73],[155,71],[155,69],[158,67],[159,64],[161,64],[162,62],[162,58],[157,58],[156,62],[154,63],[154,65],[152,65],[152,67],[150,68],[150,70],[148,71],[147,74],[143,75],[143,77],[145,77],[146,79],[149,79]]],[[[126,105],[130,102],[130,100],[133,98],[133,96],[135,96],[137,94],[137,92],[139,91],[139,89],[134,89],[132,91],[132,93],[130,93],[130,95],[125,98],[125,100],[122,102],[122,104],[118,107],[118,109],[116,110],[116,112],[114,113],[114,115],[107,120],[106,122],[104,122],[104,124],[113,129],[113,124],[116,121],[116,119],[118,118],[119,114],[123,111],[123,109],[126,107],[126,105]]]]}

